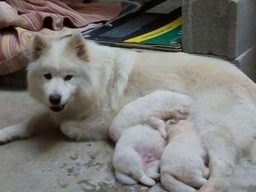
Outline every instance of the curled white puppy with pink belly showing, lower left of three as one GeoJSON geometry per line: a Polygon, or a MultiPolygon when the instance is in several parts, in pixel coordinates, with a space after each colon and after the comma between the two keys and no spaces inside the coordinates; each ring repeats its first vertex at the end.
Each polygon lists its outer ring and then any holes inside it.
{"type": "Polygon", "coordinates": [[[165,148],[166,139],[149,125],[135,125],[125,130],[113,154],[116,178],[125,184],[139,181],[153,186],[152,178],[160,177],[160,156],[165,148]]]}

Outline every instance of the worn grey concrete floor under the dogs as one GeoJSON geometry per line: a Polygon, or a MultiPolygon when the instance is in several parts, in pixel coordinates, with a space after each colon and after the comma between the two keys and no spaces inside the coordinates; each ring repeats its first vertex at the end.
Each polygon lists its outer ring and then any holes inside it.
{"type": "MultiPolygon", "coordinates": [[[[20,122],[38,110],[25,90],[0,90],[0,127],[20,122]]],[[[113,177],[113,144],[68,142],[51,131],[0,146],[1,192],[143,192],[113,177]]],[[[237,166],[228,192],[255,192],[256,166],[237,166]]]]}

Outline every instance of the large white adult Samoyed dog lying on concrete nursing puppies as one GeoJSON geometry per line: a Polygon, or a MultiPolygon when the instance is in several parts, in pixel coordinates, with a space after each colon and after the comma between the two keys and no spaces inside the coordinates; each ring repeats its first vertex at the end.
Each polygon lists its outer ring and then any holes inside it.
{"type": "Polygon", "coordinates": [[[28,90],[45,112],[3,128],[2,143],[30,137],[49,124],[74,139],[107,138],[108,125],[125,104],[154,90],[172,90],[195,101],[191,115],[211,172],[200,192],[223,192],[236,160],[252,149],[256,86],[227,61],[110,48],[78,34],[61,39],[37,36],[31,59],[28,90]]]}

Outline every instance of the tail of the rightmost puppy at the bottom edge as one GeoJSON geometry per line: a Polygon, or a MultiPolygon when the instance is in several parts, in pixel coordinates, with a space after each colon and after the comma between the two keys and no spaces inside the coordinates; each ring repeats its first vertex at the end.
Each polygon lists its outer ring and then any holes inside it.
{"type": "Polygon", "coordinates": [[[169,172],[161,172],[161,183],[164,188],[168,191],[177,192],[177,191],[186,191],[186,192],[195,192],[194,188],[191,188],[189,185],[180,182],[176,177],[173,177],[169,172]]]}

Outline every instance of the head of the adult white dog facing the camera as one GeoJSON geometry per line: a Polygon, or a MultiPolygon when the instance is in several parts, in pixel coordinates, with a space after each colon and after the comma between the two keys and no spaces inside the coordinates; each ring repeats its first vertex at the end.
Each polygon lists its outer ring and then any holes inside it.
{"type": "Polygon", "coordinates": [[[27,67],[31,96],[54,112],[62,112],[71,102],[79,108],[83,101],[74,100],[93,95],[89,59],[80,34],[62,39],[36,36],[27,67]]]}

